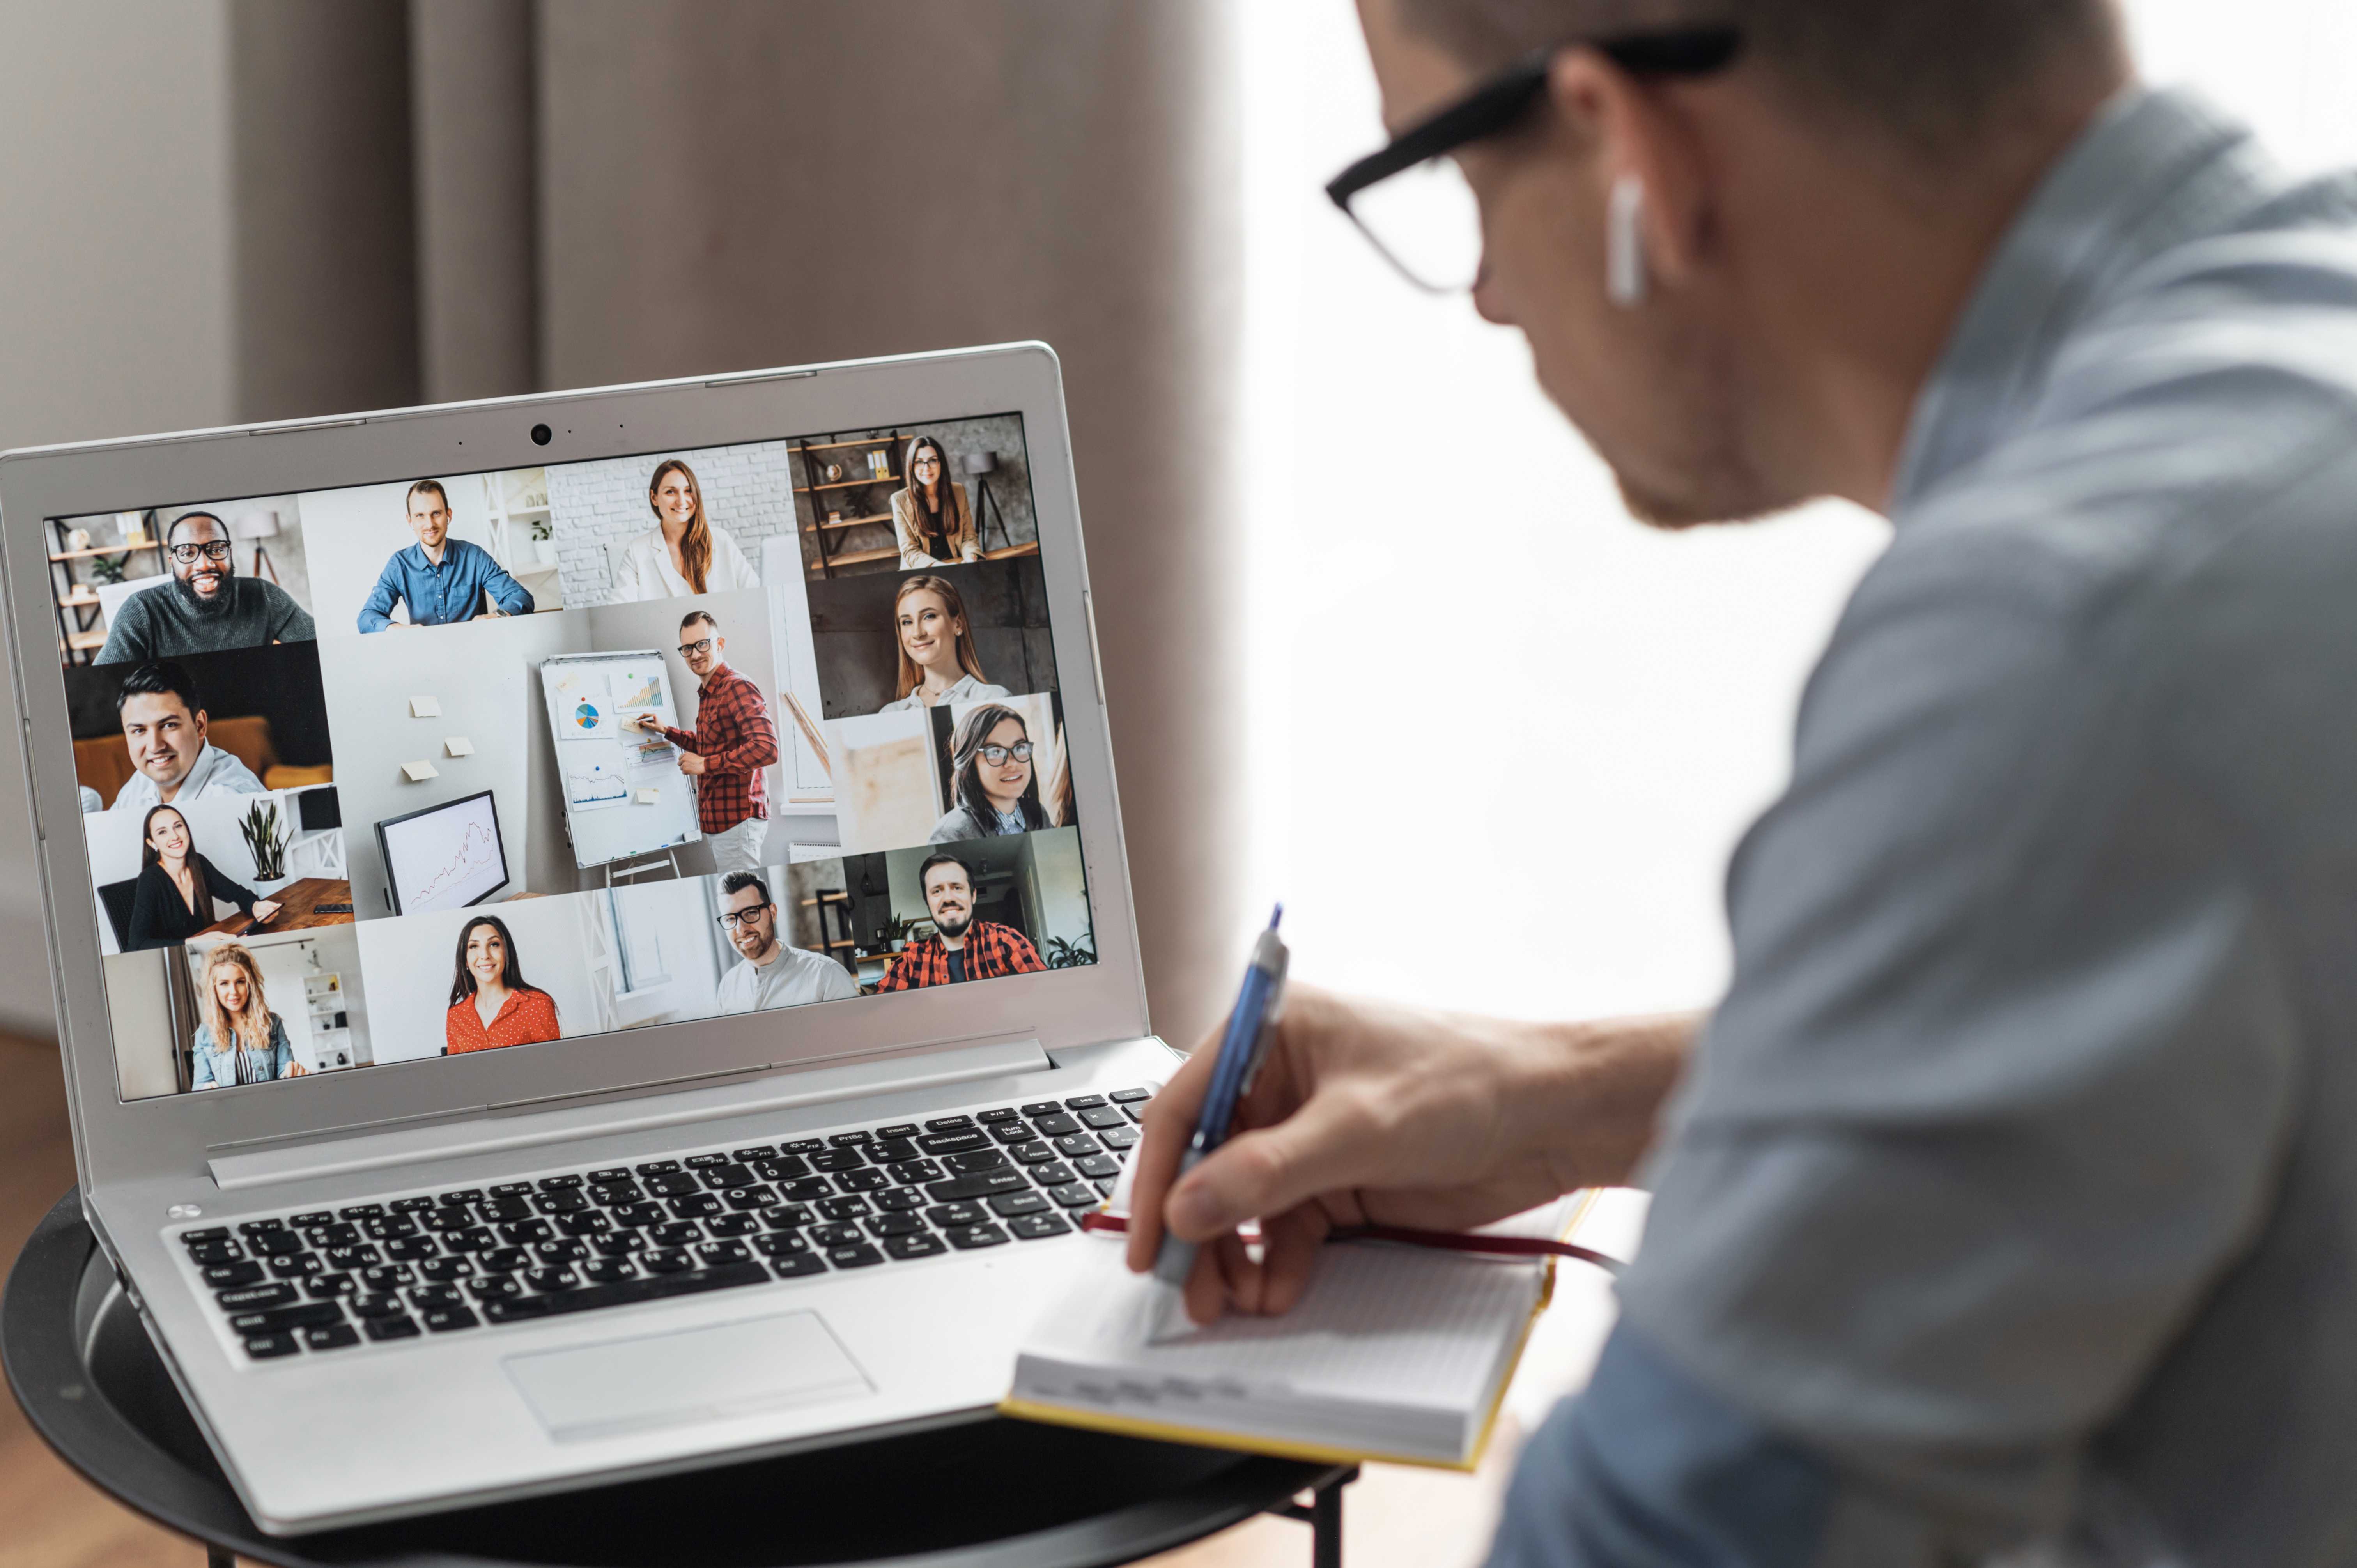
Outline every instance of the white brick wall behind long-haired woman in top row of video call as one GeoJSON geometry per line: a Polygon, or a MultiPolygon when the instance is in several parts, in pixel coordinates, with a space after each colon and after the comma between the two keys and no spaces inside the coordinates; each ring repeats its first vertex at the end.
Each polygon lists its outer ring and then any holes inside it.
{"type": "Polygon", "coordinates": [[[705,516],[735,538],[754,571],[761,568],[761,540],[794,533],[794,479],[785,441],[552,465],[549,512],[556,519],[556,571],[566,585],[566,604],[606,604],[613,594],[606,547],[618,559],[629,540],[655,526],[646,481],[667,457],[686,457],[695,469],[705,516]]]}

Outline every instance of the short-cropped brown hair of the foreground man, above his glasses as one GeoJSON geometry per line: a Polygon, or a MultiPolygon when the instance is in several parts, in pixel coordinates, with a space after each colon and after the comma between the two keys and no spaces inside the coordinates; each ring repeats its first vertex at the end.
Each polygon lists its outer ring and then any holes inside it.
{"type": "Polygon", "coordinates": [[[1808,99],[1945,160],[2072,52],[2112,57],[2114,0],[1395,0],[1400,19],[1473,68],[1600,33],[1735,26],[1808,99]]]}

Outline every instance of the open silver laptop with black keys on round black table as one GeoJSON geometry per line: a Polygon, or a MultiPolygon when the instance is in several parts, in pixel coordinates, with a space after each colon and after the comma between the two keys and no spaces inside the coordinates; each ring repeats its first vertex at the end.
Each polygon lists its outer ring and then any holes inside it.
{"type": "Polygon", "coordinates": [[[82,1210],[264,1530],[988,1415],[1176,1061],[1044,344],[0,519],[82,1210]]]}

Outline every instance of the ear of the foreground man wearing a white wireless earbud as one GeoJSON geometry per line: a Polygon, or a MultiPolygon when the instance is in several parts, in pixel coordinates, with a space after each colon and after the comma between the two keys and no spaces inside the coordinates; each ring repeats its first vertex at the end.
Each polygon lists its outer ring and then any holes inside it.
{"type": "Polygon", "coordinates": [[[1711,196],[1692,123],[1676,101],[1598,50],[1558,54],[1546,92],[1563,123],[1591,146],[1598,215],[1612,189],[1633,177],[1643,189],[1650,274],[1671,285],[1692,276],[1702,264],[1711,196]]]}

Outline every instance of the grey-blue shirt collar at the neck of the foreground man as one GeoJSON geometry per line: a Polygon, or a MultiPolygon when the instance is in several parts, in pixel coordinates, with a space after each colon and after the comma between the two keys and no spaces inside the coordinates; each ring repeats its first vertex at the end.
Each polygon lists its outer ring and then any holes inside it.
{"type": "Polygon", "coordinates": [[[1900,448],[1890,514],[1994,450],[2065,340],[2140,264],[2282,186],[2251,132],[2190,92],[2128,90],[2062,153],[1999,243],[1900,448]]]}

